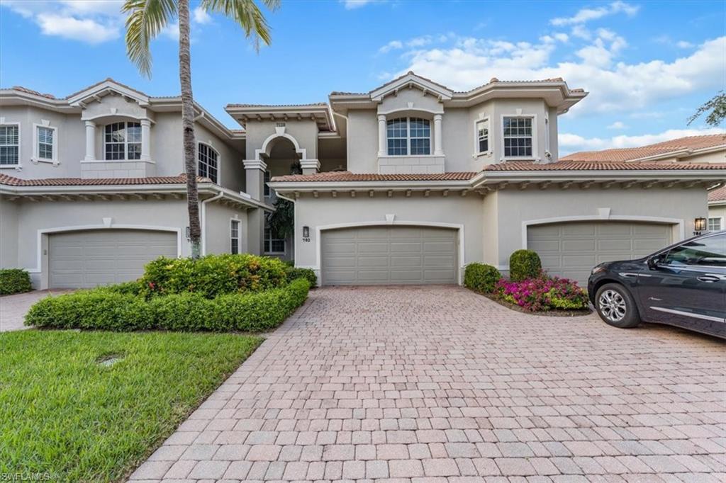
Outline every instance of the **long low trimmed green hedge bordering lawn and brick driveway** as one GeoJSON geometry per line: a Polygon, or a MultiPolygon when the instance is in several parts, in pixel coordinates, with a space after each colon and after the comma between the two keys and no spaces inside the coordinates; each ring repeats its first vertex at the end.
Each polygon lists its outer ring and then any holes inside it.
{"type": "Polygon", "coordinates": [[[113,292],[114,286],[46,297],[30,307],[25,325],[52,329],[136,331],[265,331],[274,329],[305,302],[309,281],[280,289],[224,294],[208,299],[186,292],[144,297],[113,292]]]}

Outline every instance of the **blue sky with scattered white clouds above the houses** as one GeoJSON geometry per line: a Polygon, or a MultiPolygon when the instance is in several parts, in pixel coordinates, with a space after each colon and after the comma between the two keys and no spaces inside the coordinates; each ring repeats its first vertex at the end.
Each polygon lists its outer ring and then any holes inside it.
{"type": "MultiPolygon", "coordinates": [[[[147,80],[126,59],[120,2],[0,6],[3,87],[66,96],[113,77],[150,95],[179,93],[173,25],[152,44],[147,80]]],[[[320,102],[411,69],[457,90],[563,77],[590,91],[560,117],[565,154],[714,132],[686,120],[726,86],[723,1],[283,0],[268,15],[272,46],[258,53],[234,23],[198,6],[195,99],[230,127],[228,103],[320,102]]]]}

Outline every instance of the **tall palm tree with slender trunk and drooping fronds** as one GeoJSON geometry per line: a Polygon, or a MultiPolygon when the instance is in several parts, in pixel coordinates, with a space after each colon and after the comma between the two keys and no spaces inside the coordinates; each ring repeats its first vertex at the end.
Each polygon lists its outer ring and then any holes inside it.
{"type": "MultiPolygon", "coordinates": [[[[261,0],[270,10],[280,7],[280,0],[261,0]]],[[[221,13],[237,22],[256,48],[260,41],[270,44],[269,25],[254,0],[202,0],[206,12],[221,13]]],[[[201,251],[197,163],[195,161],[194,98],[192,97],[192,65],[189,51],[189,0],[126,0],[121,7],[126,17],[126,53],[142,75],[151,78],[150,41],[174,17],[179,18],[179,83],[181,84],[181,126],[184,141],[184,170],[187,173],[187,210],[192,258],[201,251]]]]}

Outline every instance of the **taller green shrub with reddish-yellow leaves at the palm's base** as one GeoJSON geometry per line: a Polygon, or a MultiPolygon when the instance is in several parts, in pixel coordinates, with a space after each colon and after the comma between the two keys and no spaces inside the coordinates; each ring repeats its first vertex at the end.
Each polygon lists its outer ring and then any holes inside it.
{"type": "Polygon", "coordinates": [[[287,284],[285,263],[256,255],[207,255],[191,258],[160,257],[146,265],[142,294],[168,295],[194,292],[212,299],[277,289],[287,284]]]}

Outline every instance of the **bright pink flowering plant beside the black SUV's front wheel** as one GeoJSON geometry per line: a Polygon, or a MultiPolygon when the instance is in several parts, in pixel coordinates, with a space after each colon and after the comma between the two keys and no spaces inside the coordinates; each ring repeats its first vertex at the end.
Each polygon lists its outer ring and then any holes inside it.
{"type": "Polygon", "coordinates": [[[494,294],[511,304],[530,312],[546,310],[583,310],[587,308],[587,294],[576,281],[550,277],[542,273],[537,278],[509,281],[502,278],[494,294]]]}

